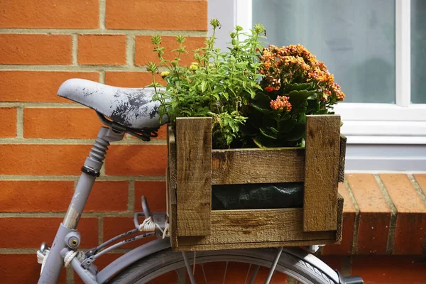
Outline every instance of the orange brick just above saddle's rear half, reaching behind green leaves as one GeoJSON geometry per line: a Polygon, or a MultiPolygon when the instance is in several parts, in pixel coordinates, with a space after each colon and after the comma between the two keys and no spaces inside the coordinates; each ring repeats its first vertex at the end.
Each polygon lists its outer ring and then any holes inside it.
{"type": "MultiPolygon", "coordinates": [[[[106,71],[105,84],[116,87],[143,88],[153,82],[149,72],[106,71]]],[[[155,74],[155,82],[165,84],[160,74],[155,74]]]]}

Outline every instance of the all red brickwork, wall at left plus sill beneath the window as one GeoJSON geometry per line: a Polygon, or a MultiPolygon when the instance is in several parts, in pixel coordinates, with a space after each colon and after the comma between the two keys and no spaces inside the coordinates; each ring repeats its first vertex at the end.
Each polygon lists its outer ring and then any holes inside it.
{"type": "MultiPolygon", "coordinates": [[[[144,66],[156,59],[150,35],[173,47],[184,34],[193,49],[206,31],[202,0],[0,1],[0,283],[36,282],[35,250],[52,241],[101,126],[94,111],[56,96],[60,84],[79,77],[144,86],[151,82],[144,66]]],[[[82,247],[131,229],[141,195],[151,209],[165,210],[165,159],[164,129],[151,143],[127,137],[111,146],[79,226],[82,247]]],[[[426,283],[426,176],[347,180],[339,189],[342,245],[320,257],[366,283],[426,283]]],[[[99,267],[141,243],[99,259],[99,267]]],[[[60,283],[73,278],[64,270],[60,283]]]]}

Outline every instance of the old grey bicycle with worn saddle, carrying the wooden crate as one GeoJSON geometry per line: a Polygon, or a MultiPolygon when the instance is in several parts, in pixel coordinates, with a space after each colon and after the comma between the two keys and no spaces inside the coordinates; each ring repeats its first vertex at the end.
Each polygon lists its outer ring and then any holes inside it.
{"type": "Polygon", "coordinates": [[[197,253],[174,253],[168,240],[167,213],[153,213],[142,197],[143,212],[134,215],[135,229],[115,236],[86,252],[77,250],[81,236],[77,225],[83,213],[94,181],[100,175],[107,148],[111,142],[120,141],[125,133],[150,141],[157,135],[158,104],[151,102],[152,88],[121,88],[89,80],[70,79],[62,83],[58,90],[60,97],[71,99],[97,112],[99,119],[107,127],[102,126],[94,141],[92,151],[82,166],[82,175],[77,183],[75,194],[67,209],[64,220],[49,248],[43,243],[37,252],[38,261],[42,263],[39,284],[56,283],[62,266],[72,266],[75,273],[84,283],[151,283],[160,275],[172,271],[177,272],[177,279],[185,283],[210,283],[204,270],[209,263],[225,262],[223,283],[226,280],[228,263],[247,263],[248,271],[244,283],[254,283],[261,267],[268,269],[265,283],[270,283],[275,271],[290,275],[302,283],[364,283],[359,277],[344,278],[339,272],[333,271],[327,264],[311,253],[318,246],[307,248],[279,249],[233,249],[223,251],[199,251],[197,253]],[[109,119],[107,119],[109,118],[109,119]],[[142,223],[139,217],[145,217],[142,223]],[[137,236],[124,239],[130,234],[141,232],[137,236]],[[94,261],[108,251],[119,246],[143,239],[146,236],[157,236],[158,239],[139,246],[117,258],[102,271],[98,271],[94,261]],[[113,244],[115,241],[119,241],[113,244]],[[109,246],[111,245],[111,246],[109,246]],[[198,272],[193,273],[195,266],[198,272]],[[182,270],[187,275],[182,275],[182,270]],[[184,278],[182,280],[182,278],[184,278]]]}

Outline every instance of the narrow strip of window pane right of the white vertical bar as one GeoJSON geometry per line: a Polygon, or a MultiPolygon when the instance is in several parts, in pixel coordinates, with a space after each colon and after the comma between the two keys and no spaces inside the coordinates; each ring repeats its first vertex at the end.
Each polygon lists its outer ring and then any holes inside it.
{"type": "Polygon", "coordinates": [[[426,1],[411,0],[411,102],[426,104],[426,1]]]}

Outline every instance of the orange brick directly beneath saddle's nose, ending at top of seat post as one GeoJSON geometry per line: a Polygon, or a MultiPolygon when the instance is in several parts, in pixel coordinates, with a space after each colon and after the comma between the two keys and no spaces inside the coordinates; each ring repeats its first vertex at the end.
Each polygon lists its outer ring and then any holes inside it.
{"type": "Polygon", "coordinates": [[[96,138],[103,124],[93,109],[26,108],[25,138],[96,138]]]}

